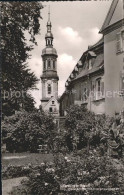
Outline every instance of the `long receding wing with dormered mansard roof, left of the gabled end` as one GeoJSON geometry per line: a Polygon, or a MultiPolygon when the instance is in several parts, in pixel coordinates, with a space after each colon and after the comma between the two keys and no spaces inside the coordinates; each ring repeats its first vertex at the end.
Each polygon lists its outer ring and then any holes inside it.
{"type": "Polygon", "coordinates": [[[83,53],[65,83],[60,98],[61,115],[73,104],[84,105],[97,114],[105,112],[103,38],[83,53]]]}

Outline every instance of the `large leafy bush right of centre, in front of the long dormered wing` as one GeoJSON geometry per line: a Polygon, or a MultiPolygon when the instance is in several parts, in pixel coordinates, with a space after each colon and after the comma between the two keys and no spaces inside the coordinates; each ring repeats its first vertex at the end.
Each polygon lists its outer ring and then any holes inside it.
{"type": "Polygon", "coordinates": [[[108,133],[114,120],[105,115],[95,115],[85,107],[78,105],[70,107],[67,113],[65,120],[67,144],[75,143],[78,149],[88,144],[99,145],[100,139],[108,133]]]}

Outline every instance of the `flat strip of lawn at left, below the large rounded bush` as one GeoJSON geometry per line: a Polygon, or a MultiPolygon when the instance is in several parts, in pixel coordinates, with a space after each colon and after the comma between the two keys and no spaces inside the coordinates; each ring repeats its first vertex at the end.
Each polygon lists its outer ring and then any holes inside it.
{"type": "Polygon", "coordinates": [[[31,163],[32,165],[37,165],[42,162],[53,161],[52,154],[42,154],[42,153],[5,153],[2,154],[2,166],[11,165],[27,165],[31,163]]]}

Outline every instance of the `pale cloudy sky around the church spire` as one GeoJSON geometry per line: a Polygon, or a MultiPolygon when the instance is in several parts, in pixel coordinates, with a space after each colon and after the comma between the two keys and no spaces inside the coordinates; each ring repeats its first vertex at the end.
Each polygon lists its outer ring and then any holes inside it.
{"type": "Polygon", "coordinates": [[[40,80],[42,74],[41,53],[42,49],[45,48],[44,37],[47,31],[48,6],[50,5],[50,19],[54,36],[53,47],[58,53],[58,94],[61,96],[65,89],[65,81],[83,52],[87,50],[88,45],[95,44],[102,37],[99,34],[99,30],[111,3],[112,0],[42,2],[44,8],[41,10],[40,34],[36,36],[38,45],[31,51],[31,57],[27,60],[31,71],[39,78],[38,90],[31,91],[36,107],[39,107],[42,98],[40,80]]]}

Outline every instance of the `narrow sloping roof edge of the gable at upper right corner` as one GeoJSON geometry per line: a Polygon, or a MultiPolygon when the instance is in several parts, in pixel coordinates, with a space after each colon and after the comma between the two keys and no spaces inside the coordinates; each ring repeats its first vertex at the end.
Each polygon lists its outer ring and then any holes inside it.
{"type": "Polygon", "coordinates": [[[108,14],[107,14],[107,16],[105,18],[105,21],[104,21],[104,23],[102,25],[102,28],[101,28],[100,32],[102,32],[105,28],[107,28],[109,26],[109,23],[110,23],[110,21],[112,19],[112,16],[114,14],[114,11],[115,11],[116,6],[117,6],[117,4],[118,4],[119,1],[120,0],[113,0],[112,1],[112,4],[110,6],[110,9],[108,11],[108,14]]]}

